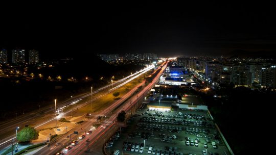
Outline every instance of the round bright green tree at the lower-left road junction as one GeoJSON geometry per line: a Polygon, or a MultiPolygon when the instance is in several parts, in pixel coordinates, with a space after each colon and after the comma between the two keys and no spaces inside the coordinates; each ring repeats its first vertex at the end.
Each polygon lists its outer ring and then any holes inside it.
{"type": "Polygon", "coordinates": [[[17,140],[19,142],[30,142],[31,140],[38,138],[38,132],[34,127],[24,127],[17,134],[17,140]]]}

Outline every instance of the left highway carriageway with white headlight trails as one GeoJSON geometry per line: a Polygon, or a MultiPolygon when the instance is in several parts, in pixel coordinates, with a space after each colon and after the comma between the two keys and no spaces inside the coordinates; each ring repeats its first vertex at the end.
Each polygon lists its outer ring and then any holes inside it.
{"type": "MultiPolygon", "coordinates": [[[[111,91],[116,90],[117,88],[123,86],[124,84],[130,82],[131,80],[133,80],[136,77],[140,76],[141,74],[147,72],[148,70],[152,69],[153,67],[154,67],[153,65],[150,65],[150,66],[142,69],[139,72],[133,73],[133,74],[125,77],[124,79],[121,79],[121,80],[118,80],[117,82],[114,82],[113,84],[109,84],[109,85],[104,86],[104,87],[102,87],[98,90],[94,90],[93,95],[94,96],[96,95],[95,97],[100,98],[100,97],[110,93],[111,91]],[[113,88],[111,88],[111,87],[113,87],[113,88]]],[[[58,108],[63,107],[63,106],[68,105],[68,104],[71,104],[73,101],[79,100],[81,98],[89,97],[89,96],[91,96],[91,92],[83,93],[81,95],[78,95],[78,96],[74,97],[74,99],[70,99],[70,100],[62,102],[61,104],[59,104],[58,108]]],[[[91,101],[96,100],[95,97],[91,101]]],[[[80,105],[78,105],[78,107],[79,108],[83,107],[83,106],[91,103],[91,101],[80,104],[80,105]]],[[[26,122],[33,121],[36,118],[41,117],[40,113],[51,113],[51,112],[54,112],[54,108],[49,106],[47,108],[42,109],[41,111],[36,111],[36,112],[29,113],[29,114],[25,114],[23,116],[18,117],[17,119],[10,120],[10,121],[7,121],[5,123],[2,123],[0,125],[0,134],[5,135],[6,133],[10,133],[10,131],[15,131],[15,128],[17,126],[22,126],[22,127],[25,126],[26,122]]],[[[71,111],[62,112],[62,113],[60,113],[59,117],[62,117],[63,115],[66,115],[67,113],[71,113],[71,111]]],[[[53,115],[49,115],[49,117],[45,121],[40,120],[39,122],[36,122],[36,125],[34,127],[36,129],[39,129],[39,127],[42,127],[44,124],[47,124],[51,121],[54,121],[55,119],[56,118],[53,117],[53,115]]],[[[5,147],[11,145],[12,138],[15,138],[15,136],[16,136],[15,134],[10,134],[6,138],[1,139],[0,140],[0,150],[2,150],[5,147]]]]}

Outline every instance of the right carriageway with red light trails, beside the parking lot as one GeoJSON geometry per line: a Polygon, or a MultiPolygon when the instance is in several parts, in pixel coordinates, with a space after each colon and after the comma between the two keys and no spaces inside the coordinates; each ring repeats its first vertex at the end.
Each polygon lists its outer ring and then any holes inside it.
{"type": "MultiPolygon", "coordinates": [[[[100,113],[100,115],[107,114],[110,112],[110,110],[117,108],[117,111],[113,112],[113,114],[110,115],[110,117],[104,121],[106,123],[103,123],[98,128],[93,128],[93,126],[91,126],[91,122],[84,122],[82,127],[88,128],[89,130],[93,131],[93,133],[86,135],[83,139],[79,140],[79,143],[75,146],[72,146],[71,150],[65,151],[64,148],[67,146],[68,143],[70,144],[71,140],[66,137],[70,136],[70,134],[72,134],[73,131],[59,138],[57,140],[57,143],[59,143],[59,145],[44,147],[43,149],[36,152],[36,154],[54,154],[60,150],[62,150],[66,154],[74,154],[74,155],[75,154],[103,154],[102,146],[104,144],[104,141],[107,140],[105,138],[108,138],[107,134],[110,132],[110,130],[114,128],[114,125],[116,124],[117,114],[121,110],[124,110],[126,113],[128,113],[131,110],[131,108],[134,105],[136,105],[137,102],[141,100],[152,87],[154,87],[155,82],[158,80],[159,76],[163,73],[164,69],[166,68],[165,63],[163,65],[164,67],[162,68],[162,71],[160,71],[155,76],[154,80],[150,84],[148,84],[143,90],[141,90],[139,93],[135,95],[132,95],[133,92],[138,87],[142,86],[145,83],[145,81],[137,85],[135,88],[130,90],[127,94],[122,96],[121,99],[115,101],[110,107],[106,108],[104,111],[100,113]],[[127,98],[128,100],[126,100],[127,98]],[[122,102],[124,102],[123,105],[122,105],[122,102]],[[118,106],[120,107],[118,108],[118,106]],[[87,146],[87,143],[88,143],[88,146],[87,146]],[[87,151],[87,149],[89,149],[89,151],[87,151]]],[[[76,137],[74,139],[76,139],[76,137]]]]}

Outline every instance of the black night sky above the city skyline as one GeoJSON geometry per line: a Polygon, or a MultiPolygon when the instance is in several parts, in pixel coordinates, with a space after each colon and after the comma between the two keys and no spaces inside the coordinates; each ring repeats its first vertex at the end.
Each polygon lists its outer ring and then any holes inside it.
{"type": "Polygon", "coordinates": [[[276,50],[272,4],[137,1],[2,8],[0,47],[38,49],[44,59],[92,53],[168,57],[276,50]]]}

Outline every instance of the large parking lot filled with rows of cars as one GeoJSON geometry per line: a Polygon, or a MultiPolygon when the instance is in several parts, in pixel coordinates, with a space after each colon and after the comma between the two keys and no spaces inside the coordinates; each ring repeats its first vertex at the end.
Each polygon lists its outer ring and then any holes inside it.
{"type": "Polygon", "coordinates": [[[204,154],[205,151],[229,154],[207,111],[159,112],[150,111],[144,105],[132,113],[128,122],[128,127],[107,144],[107,152],[119,149],[120,154],[204,154]]]}

